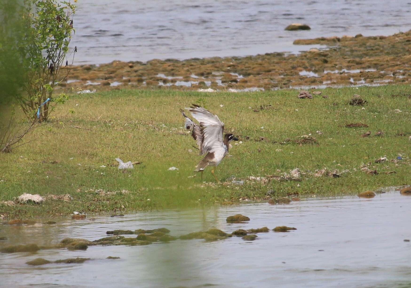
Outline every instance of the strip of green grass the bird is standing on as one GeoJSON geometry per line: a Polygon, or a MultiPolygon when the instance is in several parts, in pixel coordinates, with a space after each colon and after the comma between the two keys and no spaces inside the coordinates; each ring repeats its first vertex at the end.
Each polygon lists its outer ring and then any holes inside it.
{"type": "MultiPolygon", "coordinates": [[[[73,200],[10,207],[0,204],[0,214],[25,218],[69,214],[74,210],[124,213],[219,205],[223,201],[237,202],[246,197],[265,199],[269,189],[275,191],[275,197],[295,192],[300,198],[313,195],[337,197],[409,184],[409,85],[321,91],[329,98],[320,95],[313,99],[299,99],[296,90],[212,94],[120,90],[72,96],[55,111],[58,121],[37,129],[24,141],[46,132],[40,139],[13,153],[0,155],[0,180],[3,180],[0,182],[0,201],[11,200],[24,192],[43,196],[70,194],[73,200]],[[365,109],[348,105],[353,94],[360,94],[368,101],[365,109]],[[194,140],[182,128],[183,119],[178,110],[199,98],[225,123],[226,132],[240,135],[242,140],[242,144],[230,149],[232,156],[226,157],[217,167],[219,179],[224,181],[235,175],[244,180],[248,176],[280,175],[299,168],[307,172],[303,180],[273,180],[268,185],[246,182],[244,186],[200,187],[199,176],[189,176],[194,175],[194,167],[201,156],[196,155],[192,147],[194,140]],[[271,106],[254,112],[260,105],[271,106]],[[67,116],[70,108],[74,108],[75,113],[67,116]],[[402,112],[396,113],[395,109],[402,112]],[[344,127],[347,123],[357,122],[369,127],[344,127]],[[322,134],[317,134],[317,130],[322,134]],[[372,135],[360,137],[366,131],[372,131],[372,135]],[[377,131],[382,131],[383,135],[374,136],[377,131]],[[401,132],[406,136],[396,136],[401,132]],[[317,139],[316,144],[279,144],[286,138],[296,139],[309,133],[317,139]],[[249,136],[249,140],[245,136],[249,136]],[[265,137],[266,141],[258,141],[260,137],[265,137]],[[193,152],[189,153],[188,149],[193,152]],[[390,160],[398,154],[403,155],[399,163],[374,163],[381,156],[390,160]],[[123,173],[115,165],[116,157],[143,163],[123,173]],[[57,164],[52,164],[53,161],[57,164]],[[377,169],[379,175],[360,171],[360,166],[369,162],[369,168],[377,169]],[[102,165],[106,167],[100,167],[102,165]],[[168,171],[171,166],[179,170],[168,171]],[[339,171],[349,169],[349,172],[340,178],[312,175],[311,172],[323,167],[339,171]],[[383,171],[396,173],[387,175],[381,173],[383,171]],[[111,192],[124,189],[129,193],[98,195],[90,189],[111,192]]],[[[204,181],[214,182],[210,169],[206,169],[204,181]]]]}

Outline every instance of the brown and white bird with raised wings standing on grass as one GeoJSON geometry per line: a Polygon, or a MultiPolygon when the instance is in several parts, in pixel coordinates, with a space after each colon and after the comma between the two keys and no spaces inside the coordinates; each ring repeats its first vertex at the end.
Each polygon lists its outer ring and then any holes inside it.
{"type": "Polygon", "coordinates": [[[185,118],[184,127],[192,130],[191,135],[197,142],[199,155],[205,155],[194,171],[201,172],[201,181],[203,181],[205,167],[212,166],[211,174],[217,182],[220,182],[214,174],[215,167],[220,164],[229,152],[230,141],[238,141],[238,138],[232,133],[223,134],[224,123],[217,115],[204,107],[192,104],[191,107],[185,109],[191,112],[199,124],[194,123],[192,119],[187,117],[184,110],[180,109],[182,116],[185,118]]]}

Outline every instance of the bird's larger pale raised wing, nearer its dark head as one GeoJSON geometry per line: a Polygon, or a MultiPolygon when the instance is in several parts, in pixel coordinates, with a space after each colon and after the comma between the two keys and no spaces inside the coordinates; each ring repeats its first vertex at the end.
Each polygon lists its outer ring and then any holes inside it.
{"type": "Polygon", "coordinates": [[[196,104],[189,108],[194,119],[199,121],[203,144],[201,152],[206,154],[213,148],[221,147],[223,144],[224,123],[217,115],[196,104]]]}

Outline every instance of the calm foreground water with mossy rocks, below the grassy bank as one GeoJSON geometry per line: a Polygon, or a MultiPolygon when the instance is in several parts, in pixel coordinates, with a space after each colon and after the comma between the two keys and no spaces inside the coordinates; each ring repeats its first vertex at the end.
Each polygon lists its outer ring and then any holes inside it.
{"type": "MultiPolygon", "coordinates": [[[[411,197],[398,191],[372,199],[309,199],[289,205],[248,204],[64,220],[56,225],[0,226],[8,243],[50,245],[65,237],[95,240],[112,229],[166,227],[181,235],[216,227],[226,232],[287,225],[289,233],[259,233],[246,242],[176,240],[148,246],[90,246],[86,251],[0,254],[1,287],[409,287],[411,197]],[[249,223],[227,224],[241,213],[249,223]],[[83,264],[31,267],[37,257],[92,258],[83,264]],[[120,260],[107,260],[119,256],[120,260]]],[[[127,235],[126,235],[127,236],[127,235]]],[[[135,236],[135,235],[134,235],[135,236]]],[[[4,242],[4,241],[2,241],[4,242]]],[[[5,244],[4,244],[5,245],[5,244]]]]}

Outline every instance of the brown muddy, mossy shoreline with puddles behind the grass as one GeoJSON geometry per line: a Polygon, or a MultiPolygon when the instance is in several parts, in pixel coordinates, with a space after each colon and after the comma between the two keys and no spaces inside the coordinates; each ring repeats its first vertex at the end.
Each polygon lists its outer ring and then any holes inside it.
{"type": "Polygon", "coordinates": [[[294,44],[326,48],[311,48],[298,55],[266,53],[69,66],[64,68],[70,72],[67,80],[57,88],[77,93],[94,89],[237,92],[411,82],[411,30],[388,37],[357,34],[300,39],[294,44]]]}

